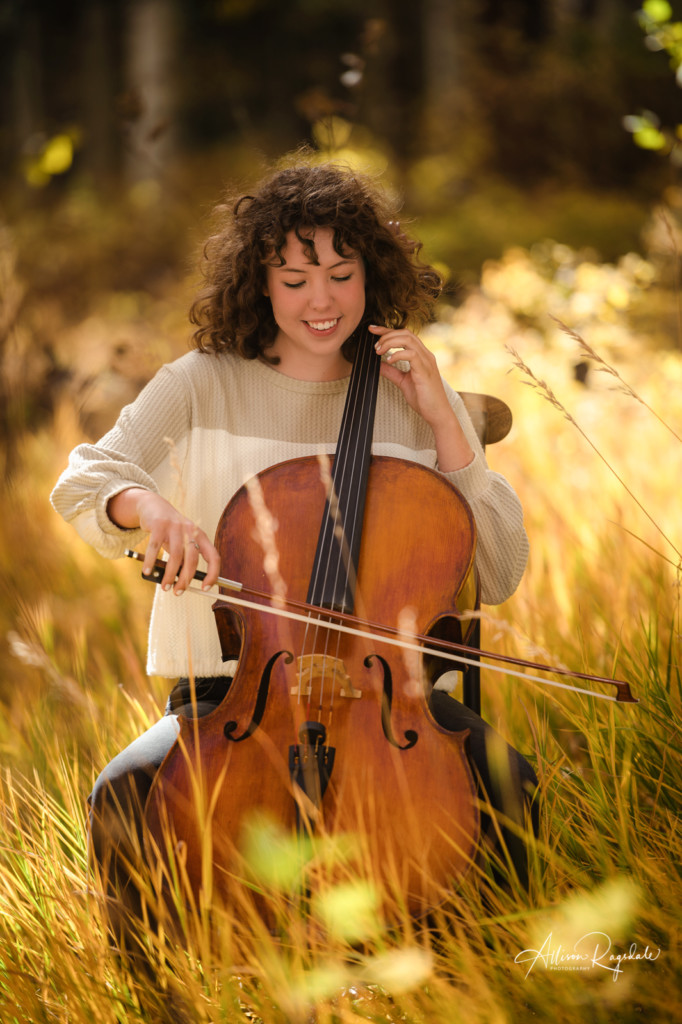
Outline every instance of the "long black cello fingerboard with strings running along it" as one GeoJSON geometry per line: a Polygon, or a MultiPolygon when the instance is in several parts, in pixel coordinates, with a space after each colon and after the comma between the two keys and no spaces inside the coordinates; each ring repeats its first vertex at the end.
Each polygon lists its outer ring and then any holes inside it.
{"type": "Polygon", "coordinates": [[[307,601],[351,612],[370,471],[381,357],[363,325],[341,420],[307,601]]]}

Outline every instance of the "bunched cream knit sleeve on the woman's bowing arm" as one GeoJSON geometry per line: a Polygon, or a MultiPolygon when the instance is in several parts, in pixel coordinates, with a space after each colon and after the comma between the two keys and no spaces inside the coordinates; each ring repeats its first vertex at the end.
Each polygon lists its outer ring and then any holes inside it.
{"type": "Polygon", "coordinates": [[[127,487],[169,497],[186,438],[187,396],[179,376],[163,367],[96,444],[79,444],[50,496],[53,508],[106,558],[119,558],[146,535],[124,529],[106,513],[127,487]]]}

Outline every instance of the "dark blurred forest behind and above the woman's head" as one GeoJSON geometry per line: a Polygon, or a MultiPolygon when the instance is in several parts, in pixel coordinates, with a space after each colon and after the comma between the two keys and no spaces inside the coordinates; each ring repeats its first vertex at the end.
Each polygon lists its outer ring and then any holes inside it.
{"type": "MultiPolygon", "coordinates": [[[[91,353],[75,368],[73,330],[94,310],[110,331],[126,321],[122,336],[139,329],[186,280],[223,186],[302,144],[384,172],[455,305],[510,247],[552,240],[606,262],[670,253],[651,214],[682,203],[678,139],[658,128],[675,125],[680,93],[673,51],[638,8],[0,0],[5,436],[49,415],[67,380],[129,377],[124,339],[101,351],[105,367],[91,353]]],[[[671,22],[666,0],[653,11],[671,22]]],[[[678,344],[676,319],[652,330],[678,344]]],[[[135,345],[138,386],[148,368],[135,345]]],[[[126,396],[121,384],[112,409],[126,396]]],[[[95,416],[104,397],[81,398],[96,433],[112,409],[95,416]]]]}

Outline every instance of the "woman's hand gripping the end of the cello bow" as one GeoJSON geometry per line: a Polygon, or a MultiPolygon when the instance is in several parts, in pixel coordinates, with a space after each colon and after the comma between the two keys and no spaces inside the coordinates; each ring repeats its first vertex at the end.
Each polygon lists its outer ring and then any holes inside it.
{"type": "Polygon", "coordinates": [[[220,555],[216,548],[203,529],[161,495],[144,487],[127,487],[111,499],[106,513],[117,526],[139,528],[150,535],[142,565],[144,575],[150,574],[161,551],[167,553],[168,565],[161,581],[164,590],[172,587],[174,594],[182,594],[194,578],[200,554],[207,563],[202,588],[208,590],[217,582],[220,555]]]}

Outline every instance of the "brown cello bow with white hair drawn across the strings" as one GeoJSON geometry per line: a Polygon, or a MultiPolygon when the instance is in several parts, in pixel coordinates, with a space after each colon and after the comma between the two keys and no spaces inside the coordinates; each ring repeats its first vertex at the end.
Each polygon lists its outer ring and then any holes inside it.
{"type": "MultiPolygon", "coordinates": [[[[126,549],[125,554],[128,558],[134,558],[136,561],[144,561],[144,555],[140,554],[138,551],[126,549]]],[[[143,575],[142,579],[146,580],[148,583],[158,584],[161,583],[165,571],[166,562],[163,559],[158,558],[152,571],[148,575],[143,575]]],[[[206,572],[198,569],[194,574],[194,579],[201,582],[206,579],[206,572]]],[[[585,672],[573,672],[571,669],[563,669],[551,665],[539,664],[537,662],[527,662],[523,658],[512,657],[510,654],[496,654],[493,651],[481,650],[478,647],[469,647],[466,644],[456,643],[453,640],[439,640],[435,637],[425,636],[420,633],[408,633],[407,631],[399,630],[396,627],[358,618],[355,615],[348,614],[347,612],[333,611],[330,608],[321,608],[316,605],[308,604],[305,601],[296,601],[292,598],[283,599],[272,594],[267,594],[264,591],[253,590],[249,587],[245,587],[244,584],[239,583],[236,580],[226,580],[224,577],[218,577],[217,586],[224,587],[226,590],[235,591],[239,594],[248,594],[249,597],[257,598],[259,600],[251,601],[246,597],[236,597],[235,594],[216,595],[210,591],[200,590],[198,587],[191,586],[187,587],[187,590],[195,594],[200,594],[203,597],[210,597],[212,600],[224,601],[227,604],[235,604],[240,607],[253,608],[257,611],[263,611],[266,614],[282,615],[283,617],[293,620],[294,622],[307,623],[310,621],[311,615],[315,615],[318,618],[321,616],[325,616],[325,626],[338,633],[346,633],[350,636],[360,636],[368,639],[378,640],[381,643],[386,643],[394,647],[401,647],[404,650],[414,650],[421,654],[433,654],[436,657],[441,657],[450,662],[457,662],[461,665],[478,665],[478,657],[491,658],[495,662],[502,663],[501,665],[486,665],[486,668],[493,672],[502,672],[505,675],[516,676],[519,679],[540,683],[542,686],[554,686],[559,689],[570,690],[574,693],[599,697],[602,700],[611,700],[619,703],[639,703],[639,698],[633,696],[629,683],[620,679],[612,679],[607,676],[593,676],[585,672]],[[261,604],[260,601],[262,600],[270,602],[270,606],[261,604]],[[290,608],[296,610],[290,611],[283,607],[284,604],[287,604],[290,608]],[[428,646],[424,646],[425,644],[428,646]],[[607,686],[614,686],[616,689],[616,695],[611,696],[608,693],[599,693],[597,690],[588,690],[580,686],[570,686],[567,683],[560,683],[553,679],[541,679],[539,676],[528,675],[527,672],[516,672],[513,669],[505,668],[505,666],[510,665],[515,665],[523,669],[534,669],[536,672],[551,672],[558,676],[566,676],[569,679],[583,679],[588,682],[603,683],[607,686]]]]}

